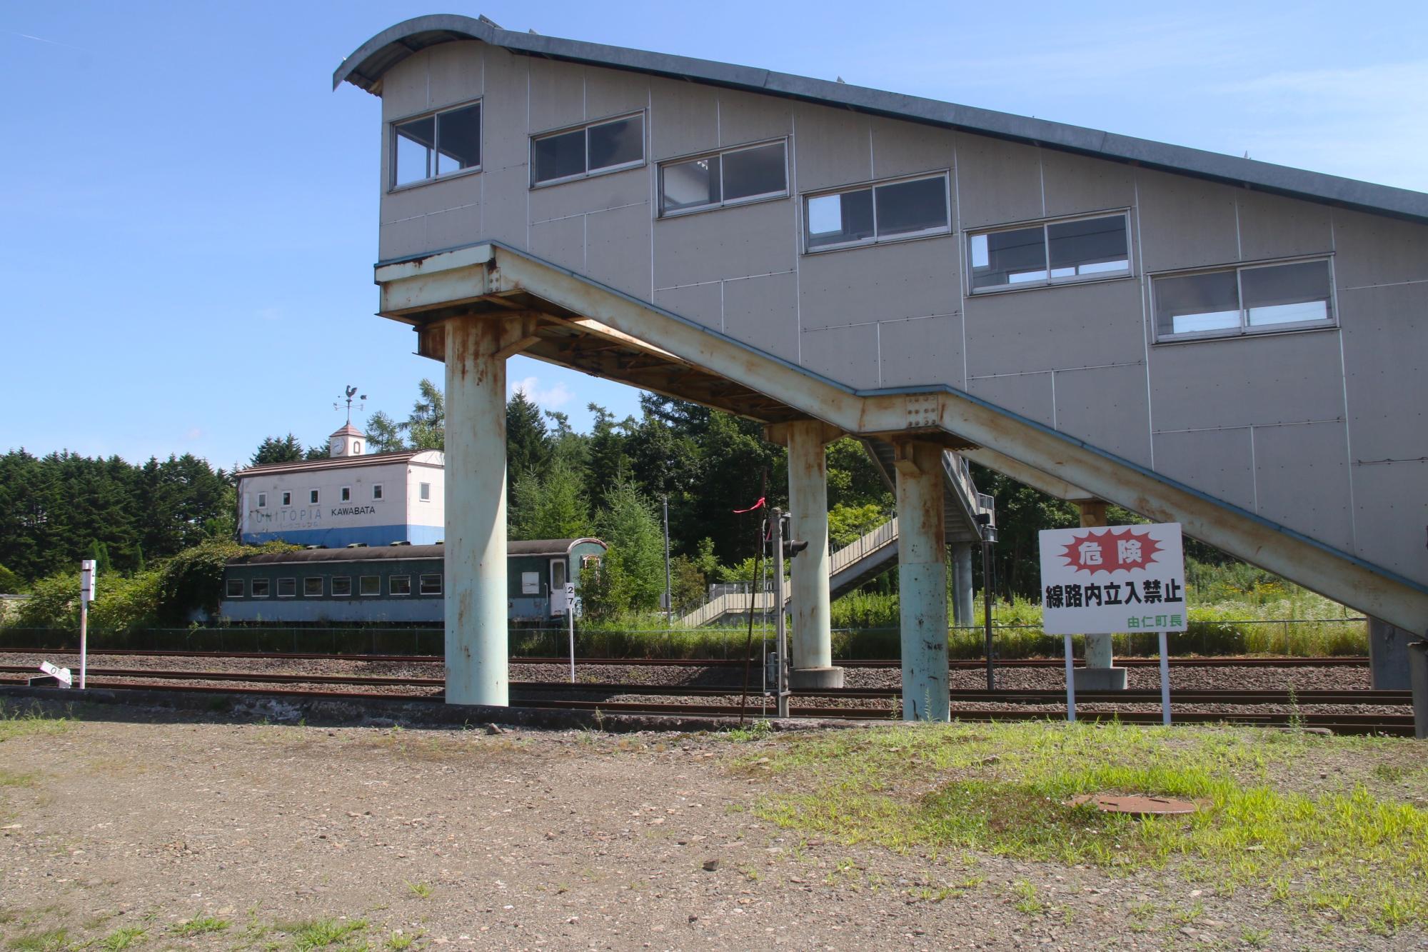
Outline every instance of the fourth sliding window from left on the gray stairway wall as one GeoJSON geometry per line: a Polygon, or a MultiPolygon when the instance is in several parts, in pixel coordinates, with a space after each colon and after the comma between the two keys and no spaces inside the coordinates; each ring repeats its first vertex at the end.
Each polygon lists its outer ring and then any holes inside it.
{"type": "Polygon", "coordinates": [[[947,174],[810,196],[804,230],[810,252],[945,234],[951,232],[947,174]]]}

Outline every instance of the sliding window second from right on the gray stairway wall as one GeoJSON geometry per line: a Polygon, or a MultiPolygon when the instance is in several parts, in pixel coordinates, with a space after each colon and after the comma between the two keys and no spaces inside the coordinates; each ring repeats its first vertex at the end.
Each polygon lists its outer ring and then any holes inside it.
{"type": "Polygon", "coordinates": [[[1124,212],[972,233],[972,292],[1044,287],[1131,273],[1124,212]]]}

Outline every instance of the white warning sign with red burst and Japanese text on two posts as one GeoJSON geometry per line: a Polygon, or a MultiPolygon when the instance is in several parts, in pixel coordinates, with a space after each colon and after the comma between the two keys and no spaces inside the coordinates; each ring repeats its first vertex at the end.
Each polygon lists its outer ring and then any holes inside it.
{"type": "Polygon", "coordinates": [[[1145,526],[1044,529],[1041,626],[1065,635],[1067,720],[1075,720],[1071,635],[1157,632],[1161,720],[1170,723],[1167,632],[1184,632],[1185,547],[1178,522],[1145,526]]]}

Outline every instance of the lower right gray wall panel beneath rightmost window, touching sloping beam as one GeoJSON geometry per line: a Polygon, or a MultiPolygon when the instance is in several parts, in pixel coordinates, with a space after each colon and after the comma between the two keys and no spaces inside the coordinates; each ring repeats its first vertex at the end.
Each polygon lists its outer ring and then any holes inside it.
{"type": "Polygon", "coordinates": [[[1342,423],[1254,427],[1259,515],[1354,550],[1342,423]]]}

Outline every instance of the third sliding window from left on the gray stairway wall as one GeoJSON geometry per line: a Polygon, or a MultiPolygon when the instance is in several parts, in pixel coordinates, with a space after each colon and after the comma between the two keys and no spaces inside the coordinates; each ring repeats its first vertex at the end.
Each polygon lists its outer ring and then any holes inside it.
{"type": "Polygon", "coordinates": [[[660,166],[660,214],[703,212],[788,194],[788,146],[730,149],[660,166]]]}

